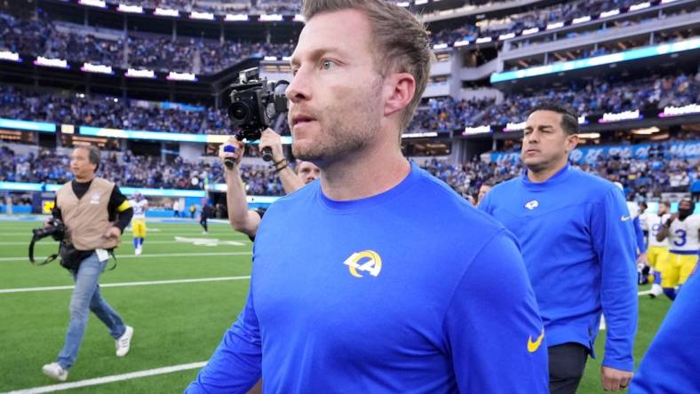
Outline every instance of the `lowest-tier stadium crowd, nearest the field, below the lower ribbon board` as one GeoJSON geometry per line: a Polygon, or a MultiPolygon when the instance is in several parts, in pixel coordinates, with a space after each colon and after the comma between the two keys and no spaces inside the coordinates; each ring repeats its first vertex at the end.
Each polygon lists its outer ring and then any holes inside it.
{"type": "MultiPolygon", "coordinates": [[[[691,135],[685,136],[685,140],[690,139],[691,135]]],[[[517,151],[515,146],[513,152],[517,151]]],[[[61,184],[71,178],[69,162],[68,156],[50,150],[20,155],[1,147],[0,181],[61,184]]],[[[521,175],[523,170],[518,159],[487,162],[479,157],[459,165],[432,159],[422,166],[463,196],[476,195],[481,185],[496,185],[521,175]]],[[[622,183],[630,199],[638,201],[660,198],[661,193],[688,192],[689,185],[700,180],[700,161],[676,157],[664,143],[655,144],[648,159],[601,155],[597,162],[577,164],[577,167],[622,183]]],[[[223,169],[218,163],[186,162],[180,157],[165,162],[159,157],[129,152],[120,157],[114,153],[105,154],[100,173],[117,185],[131,187],[201,190],[205,185],[225,183],[223,169]]],[[[243,165],[241,173],[250,195],[284,193],[272,168],[243,165]]]]}

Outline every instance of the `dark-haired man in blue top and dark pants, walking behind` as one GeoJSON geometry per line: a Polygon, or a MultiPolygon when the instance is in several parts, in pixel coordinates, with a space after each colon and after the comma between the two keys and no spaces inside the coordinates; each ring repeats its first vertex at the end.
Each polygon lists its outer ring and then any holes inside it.
{"type": "Polygon", "coordinates": [[[601,311],[608,323],[602,386],[624,389],[637,327],[632,217],[616,185],[569,167],[577,132],[569,108],[537,106],[522,138],[525,174],[496,185],[480,205],[521,242],[545,322],[552,393],[576,391],[601,311]]]}

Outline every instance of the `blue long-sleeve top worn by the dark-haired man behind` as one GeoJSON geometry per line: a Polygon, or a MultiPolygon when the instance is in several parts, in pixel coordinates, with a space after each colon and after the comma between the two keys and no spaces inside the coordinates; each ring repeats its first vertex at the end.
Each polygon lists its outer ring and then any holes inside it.
{"type": "Polygon", "coordinates": [[[616,185],[567,165],[542,183],[524,174],[495,186],[481,209],[521,242],[548,345],[581,343],[593,354],[602,311],[603,365],[632,371],[636,241],[616,185]]]}

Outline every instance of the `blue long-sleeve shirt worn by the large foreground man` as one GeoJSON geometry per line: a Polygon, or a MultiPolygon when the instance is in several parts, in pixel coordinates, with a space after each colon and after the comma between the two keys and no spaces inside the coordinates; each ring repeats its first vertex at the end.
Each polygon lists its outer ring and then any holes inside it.
{"type": "Polygon", "coordinates": [[[542,321],[517,241],[411,164],[386,193],[276,201],[251,290],[187,393],[545,393],[542,321]]]}

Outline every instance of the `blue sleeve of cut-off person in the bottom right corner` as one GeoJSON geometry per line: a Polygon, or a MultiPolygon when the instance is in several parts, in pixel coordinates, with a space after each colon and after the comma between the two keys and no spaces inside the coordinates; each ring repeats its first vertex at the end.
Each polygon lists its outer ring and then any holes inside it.
{"type": "Polygon", "coordinates": [[[693,274],[673,301],[640,369],[630,394],[700,392],[700,275],[693,274]]]}

